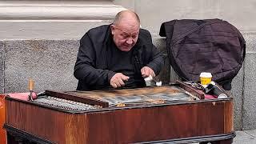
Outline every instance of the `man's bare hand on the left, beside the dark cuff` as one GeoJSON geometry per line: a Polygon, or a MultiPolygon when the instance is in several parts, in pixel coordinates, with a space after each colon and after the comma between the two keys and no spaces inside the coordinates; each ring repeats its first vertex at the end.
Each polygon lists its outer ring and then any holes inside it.
{"type": "Polygon", "coordinates": [[[125,86],[124,81],[128,81],[129,77],[122,73],[114,74],[114,76],[110,79],[110,85],[114,88],[118,88],[121,86],[125,86]]]}

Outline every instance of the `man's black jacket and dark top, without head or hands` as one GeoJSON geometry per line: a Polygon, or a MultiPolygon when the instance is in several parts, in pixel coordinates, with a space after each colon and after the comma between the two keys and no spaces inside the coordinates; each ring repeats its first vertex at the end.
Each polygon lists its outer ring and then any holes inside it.
{"type": "Polygon", "coordinates": [[[129,78],[127,87],[146,86],[141,68],[149,66],[159,74],[163,65],[161,52],[152,44],[150,32],[140,29],[138,41],[128,52],[115,46],[110,25],[89,30],[80,40],[74,77],[78,79],[77,90],[110,88],[110,79],[116,73],[129,78]]]}

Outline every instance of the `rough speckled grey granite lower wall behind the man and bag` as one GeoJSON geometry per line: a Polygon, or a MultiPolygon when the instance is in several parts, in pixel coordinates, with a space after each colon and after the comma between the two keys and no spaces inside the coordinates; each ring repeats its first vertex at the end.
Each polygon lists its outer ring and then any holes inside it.
{"type": "MultiPolygon", "coordinates": [[[[244,34],[247,52],[244,66],[232,82],[235,130],[255,128],[255,52],[254,34],[244,34]],[[253,39],[251,39],[253,38],[253,39]]],[[[165,50],[165,38],[154,37],[154,44],[165,50]]],[[[35,80],[35,90],[75,90],[74,62],[79,40],[2,40],[0,41],[1,93],[25,92],[29,78],[35,80]]],[[[168,58],[160,74],[163,82],[174,82],[177,74],[170,68],[168,58]]]]}

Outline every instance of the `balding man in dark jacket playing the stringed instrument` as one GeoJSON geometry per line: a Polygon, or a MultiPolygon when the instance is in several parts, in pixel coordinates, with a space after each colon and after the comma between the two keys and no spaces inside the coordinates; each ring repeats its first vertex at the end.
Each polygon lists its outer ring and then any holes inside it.
{"type": "Polygon", "coordinates": [[[114,23],[89,30],[80,40],[74,77],[77,90],[146,86],[144,78],[159,74],[162,54],[133,11],[124,10],[114,23]]]}

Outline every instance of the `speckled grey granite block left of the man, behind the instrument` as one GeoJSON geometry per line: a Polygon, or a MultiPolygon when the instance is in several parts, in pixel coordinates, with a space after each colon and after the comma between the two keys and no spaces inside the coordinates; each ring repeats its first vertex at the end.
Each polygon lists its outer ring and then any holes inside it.
{"type": "Polygon", "coordinates": [[[28,91],[29,78],[34,79],[37,92],[75,90],[77,53],[77,40],[6,41],[5,92],[28,91]]]}

